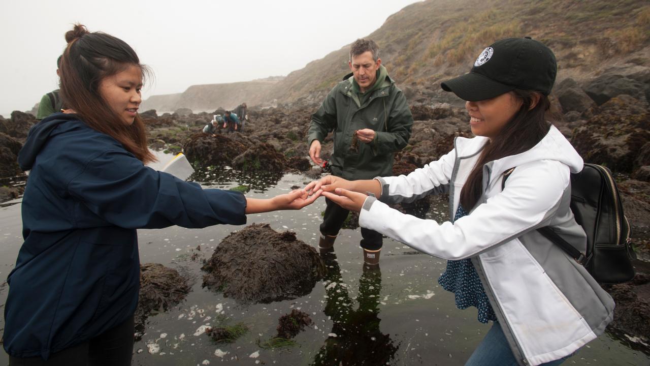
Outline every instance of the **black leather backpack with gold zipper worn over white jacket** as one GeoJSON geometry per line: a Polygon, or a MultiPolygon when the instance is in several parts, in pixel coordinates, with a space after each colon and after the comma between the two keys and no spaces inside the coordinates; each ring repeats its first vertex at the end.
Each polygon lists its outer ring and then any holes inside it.
{"type": "MultiPolygon", "coordinates": [[[[504,173],[501,189],[514,169],[504,173]]],[[[630,281],[634,277],[631,259],[635,257],[630,245],[632,231],[609,169],[587,163],[580,173],[571,174],[571,211],[587,234],[586,253],[551,227],[541,227],[539,233],[582,264],[597,282],[612,285],[630,281]]]]}

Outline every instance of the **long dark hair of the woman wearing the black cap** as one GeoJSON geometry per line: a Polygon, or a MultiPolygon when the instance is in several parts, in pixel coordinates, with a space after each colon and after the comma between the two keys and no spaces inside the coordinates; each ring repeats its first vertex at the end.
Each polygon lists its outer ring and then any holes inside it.
{"type": "Polygon", "coordinates": [[[460,191],[460,204],[469,211],[482,195],[483,165],[487,162],[516,155],[534,147],[549,132],[551,124],[547,122],[547,111],[551,107],[549,98],[533,91],[513,90],[515,98],[521,100],[521,107],[499,132],[483,148],[478,162],[472,169],[460,191]],[[532,109],[536,97],[539,101],[532,109]]]}

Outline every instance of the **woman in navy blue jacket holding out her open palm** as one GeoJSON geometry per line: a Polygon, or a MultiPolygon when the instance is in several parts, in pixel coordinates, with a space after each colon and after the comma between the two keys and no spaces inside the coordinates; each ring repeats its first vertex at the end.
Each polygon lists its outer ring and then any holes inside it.
{"type": "Polygon", "coordinates": [[[31,173],[4,347],[11,365],[131,365],[136,229],[241,225],[245,214],[299,209],[320,192],[251,199],[146,167],[155,160],[137,114],[146,68],[125,42],[83,25],[66,40],[69,113],[36,124],[19,154],[31,173]]]}

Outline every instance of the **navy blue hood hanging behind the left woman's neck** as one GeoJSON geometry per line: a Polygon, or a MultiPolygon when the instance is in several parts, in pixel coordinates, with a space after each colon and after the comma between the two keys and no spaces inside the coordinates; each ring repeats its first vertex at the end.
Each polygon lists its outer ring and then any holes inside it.
{"type": "Polygon", "coordinates": [[[29,129],[25,145],[23,145],[23,148],[18,152],[18,165],[20,166],[20,169],[23,169],[23,171],[32,169],[38,152],[41,150],[43,145],[45,145],[45,142],[47,142],[47,139],[49,139],[55,128],[70,120],[78,120],[77,115],[54,113],[53,115],[45,117],[37,124],[34,124],[34,126],[29,129]]]}

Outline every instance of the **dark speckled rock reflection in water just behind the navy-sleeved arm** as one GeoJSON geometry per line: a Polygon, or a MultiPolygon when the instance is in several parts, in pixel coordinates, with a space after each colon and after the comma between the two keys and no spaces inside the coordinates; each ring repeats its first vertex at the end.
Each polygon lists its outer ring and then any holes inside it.
{"type": "Polygon", "coordinates": [[[233,184],[237,184],[238,186],[247,186],[256,193],[264,193],[268,188],[276,186],[282,176],[283,173],[277,172],[250,172],[232,169],[227,166],[209,166],[196,169],[188,180],[213,188],[229,188],[233,184]]]}

